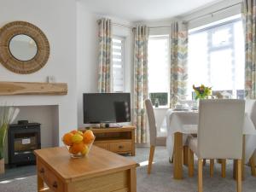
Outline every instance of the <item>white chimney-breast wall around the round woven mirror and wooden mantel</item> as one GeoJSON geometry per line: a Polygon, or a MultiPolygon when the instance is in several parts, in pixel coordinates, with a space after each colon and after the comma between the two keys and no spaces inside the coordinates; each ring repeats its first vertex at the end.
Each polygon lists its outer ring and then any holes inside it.
{"type": "MultiPolygon", "coordinates": [[[[58,105],[59,127],[56,140],[61,144],[64,132],[77,127],[76,88],[76,3],[74,0],[1,0],[0,26],[25,20],[38,26],[49,39],[50,56],[37,73],[16,74],[0,65],[0,81],[44,82],[49,75],[68,84],[67,96],[0,96],[0,105],[58,105]]],[[[41,113],[36,110],[34,113],[41,113]]],[[[58,143],[56,143],[58,144],[58,143]]]]}

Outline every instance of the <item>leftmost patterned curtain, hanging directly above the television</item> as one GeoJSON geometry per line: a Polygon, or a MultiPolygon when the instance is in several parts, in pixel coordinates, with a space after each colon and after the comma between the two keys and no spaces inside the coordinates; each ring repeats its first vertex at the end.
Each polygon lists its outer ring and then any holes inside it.
{"type": "Polygon", "coordinates": [[[112,92],[112,24],[102,19],[99,24],[98,92],[112,92]]]}

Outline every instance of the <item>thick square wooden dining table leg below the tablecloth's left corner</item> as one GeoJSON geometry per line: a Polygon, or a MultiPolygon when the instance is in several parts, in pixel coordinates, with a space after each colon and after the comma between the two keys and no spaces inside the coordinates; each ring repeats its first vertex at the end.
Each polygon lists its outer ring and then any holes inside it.
{"type": "Polygon", "coordinates": [[[183,133],[174,133],[173,177],[183,179],[183,133]]]}

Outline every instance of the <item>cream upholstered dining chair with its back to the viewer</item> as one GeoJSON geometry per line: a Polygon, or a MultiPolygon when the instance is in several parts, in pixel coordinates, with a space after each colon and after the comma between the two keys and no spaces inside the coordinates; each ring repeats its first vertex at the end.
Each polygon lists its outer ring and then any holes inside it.
{"type": "Polygon", "coordinates": [[[198,191],[202,192],[202,160],[237,161],[237,192],[241,192],[242,125],[245,101],[200,100],[198,136],[189,139],[189,172],[198,157],[198,191]]]}

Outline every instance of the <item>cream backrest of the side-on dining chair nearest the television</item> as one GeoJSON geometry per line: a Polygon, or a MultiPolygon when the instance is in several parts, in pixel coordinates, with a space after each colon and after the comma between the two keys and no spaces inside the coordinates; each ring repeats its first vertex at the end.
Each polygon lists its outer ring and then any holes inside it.
{"type": "Polygon", "coordinates": [[[145,100],[145,106],[148,114],[150,145],[155,146],[157,130],[154,118],[154,108],[150,99],[145,100]]]}

